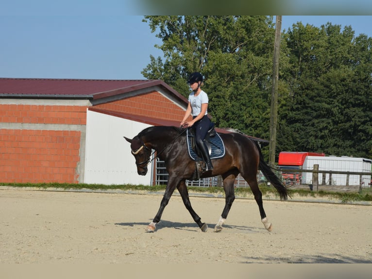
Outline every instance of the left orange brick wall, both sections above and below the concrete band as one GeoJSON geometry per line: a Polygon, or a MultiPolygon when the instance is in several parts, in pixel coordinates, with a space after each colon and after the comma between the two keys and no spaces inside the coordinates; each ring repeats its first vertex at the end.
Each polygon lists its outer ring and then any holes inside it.
{"type": "MultiPolygon", "coordinates": [[[[86,124],[86,106],[0,105],[0,122],[86,124]]],[[[80,131],[0,129],[0,182],[78,183],[80,131]]]]}

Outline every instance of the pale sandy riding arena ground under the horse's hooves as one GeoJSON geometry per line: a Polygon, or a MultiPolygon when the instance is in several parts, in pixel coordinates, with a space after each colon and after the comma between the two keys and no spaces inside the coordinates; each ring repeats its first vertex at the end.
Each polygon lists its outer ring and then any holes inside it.
{"type": "Polygon", "coordinates": [[[372,263],[372,206],[191,197],[202,232],[173,196],[145,232],[158,194],[0,190],[0,263],[372,263]]]}

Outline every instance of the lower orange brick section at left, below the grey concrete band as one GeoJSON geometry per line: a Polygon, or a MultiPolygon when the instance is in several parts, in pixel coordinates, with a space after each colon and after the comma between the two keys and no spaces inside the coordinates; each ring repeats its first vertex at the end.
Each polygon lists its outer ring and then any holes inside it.
{"type": "Polygon", "coordinates": [[[77,183],[80,134],[1,129],[0,181],[77,183]]]}

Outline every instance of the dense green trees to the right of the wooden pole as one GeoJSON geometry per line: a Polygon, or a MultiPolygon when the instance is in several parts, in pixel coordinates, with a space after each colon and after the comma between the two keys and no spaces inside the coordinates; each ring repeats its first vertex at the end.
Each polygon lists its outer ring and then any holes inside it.
{"type": "Polygon", "coordinates": [[[350,26],[301,23],[287,34],[290,102],[281,116],[286,151],[371,156],[371,40],[350,26]]]}

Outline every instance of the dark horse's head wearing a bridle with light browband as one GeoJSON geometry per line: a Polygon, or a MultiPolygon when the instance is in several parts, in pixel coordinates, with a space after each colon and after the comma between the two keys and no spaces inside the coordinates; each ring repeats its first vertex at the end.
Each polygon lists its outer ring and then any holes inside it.
{"type": "Polygon", "coordinates": [[[137,165],[137,173],[146,175],[147,165],[150,163],[151,149],[137,136],[132,140],[126,137],[124,139],[131,143],[132,155],[135,157],[135,164],[137,165]]]}

